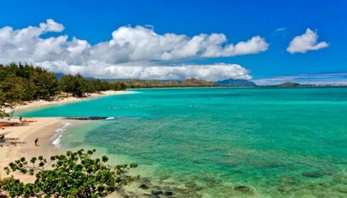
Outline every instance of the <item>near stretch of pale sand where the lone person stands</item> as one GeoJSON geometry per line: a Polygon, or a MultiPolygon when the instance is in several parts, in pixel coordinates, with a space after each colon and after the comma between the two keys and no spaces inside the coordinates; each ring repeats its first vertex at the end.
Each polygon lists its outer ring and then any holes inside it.
{"type": "MultiPolygon", "coordinates": [[[[3,168],[8,166],[8,163],[25,157],[30,160],[34,156],[43,155],[50,157],[53,154],[58,154],[60,151],[51,141],[56,130],[61,127],[63,121],[58,117],[50,118],[31,118],[36,122],[29,123],[24,126],[6,127],[1,129],[1,134],[6,134],[6,141],[0,147],[0,177],[8,177],[3,168]],[[34,140],[39,138],[38,146],[35,146],[34,140]]],[[[8,121],[0,119],[0,121],[8,121]]],[[[10,122],[17,122],[18,119],[12,118],[10,122]]],[[[34,177],[18,174],[13,174],[22,182],[32,182],[34,177]]]]}

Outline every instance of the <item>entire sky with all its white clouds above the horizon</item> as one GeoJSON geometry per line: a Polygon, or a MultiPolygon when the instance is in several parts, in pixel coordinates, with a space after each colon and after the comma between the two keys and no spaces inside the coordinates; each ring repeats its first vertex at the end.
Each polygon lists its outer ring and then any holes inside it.
{"type": "Polygon", "coordinates": [[[346,0],[0,1],[0,63],[114,79],[347,84],[346,0]]]}

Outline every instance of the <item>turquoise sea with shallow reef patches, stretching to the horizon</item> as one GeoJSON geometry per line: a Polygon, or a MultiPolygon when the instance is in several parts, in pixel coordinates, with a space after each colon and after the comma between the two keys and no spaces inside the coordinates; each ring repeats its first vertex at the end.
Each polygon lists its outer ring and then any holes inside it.
{"type": "Polygon", "coordinates": [[[117,117],[70,127],[61,147],[137,162],[174,197],[347,197],[346,88],[133,91],[23,116],[117,117]]]}

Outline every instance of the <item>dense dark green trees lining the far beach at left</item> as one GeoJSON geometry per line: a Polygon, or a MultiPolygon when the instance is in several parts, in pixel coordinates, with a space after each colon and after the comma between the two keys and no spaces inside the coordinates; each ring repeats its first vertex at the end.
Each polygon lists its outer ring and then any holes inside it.
{"type": "Polygon", "coordinates": [[[26,63],[0,64],[0,116],[4,107],[13,107],[21,101],[50,99],[60,92],[83,97],[86,93],[126,88],[120,82],[85,79],[80,74],[63,75],[58,79],[55,73],[26,63]]]}

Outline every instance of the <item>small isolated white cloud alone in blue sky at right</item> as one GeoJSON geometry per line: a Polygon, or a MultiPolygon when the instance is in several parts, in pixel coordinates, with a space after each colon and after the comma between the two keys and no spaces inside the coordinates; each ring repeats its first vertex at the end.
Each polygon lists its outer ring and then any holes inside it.
{"type": "Polygon", "coordinates": [[[309,28],[302,35],[294,37],[290,43],[287,51],[289,53],[306,53],[309,50],[318,50],[322,48],[327,48],[329,46],[326,42],[318,43],[318,35],[309,28]]]}

